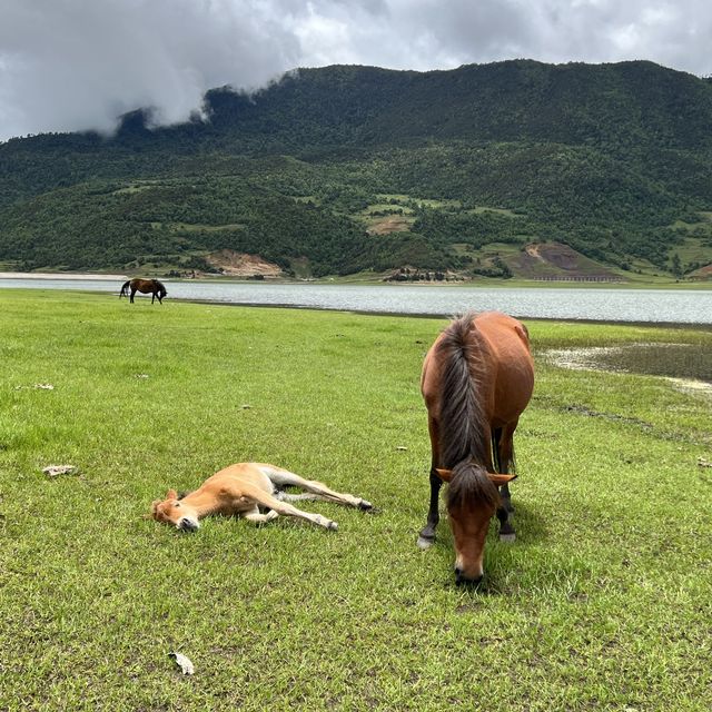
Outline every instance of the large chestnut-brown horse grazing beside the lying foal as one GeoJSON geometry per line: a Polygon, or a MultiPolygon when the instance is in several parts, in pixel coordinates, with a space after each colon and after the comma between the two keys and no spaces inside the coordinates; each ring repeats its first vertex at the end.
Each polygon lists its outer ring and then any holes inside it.
{"type": "Polygon", "coordinates": [[[457,583],[482,578],[485,536],[495,512],[501,538],[514,540],[507,486],[515,477],[510,474],[513,435],[533,388],[526,327],[498,312],[456,319],[425,356],[421,389],[433,461],[431,506],[418,545],[427,548],[435,541],[438,493],[443,481],[448,482],[457,583]]]}

